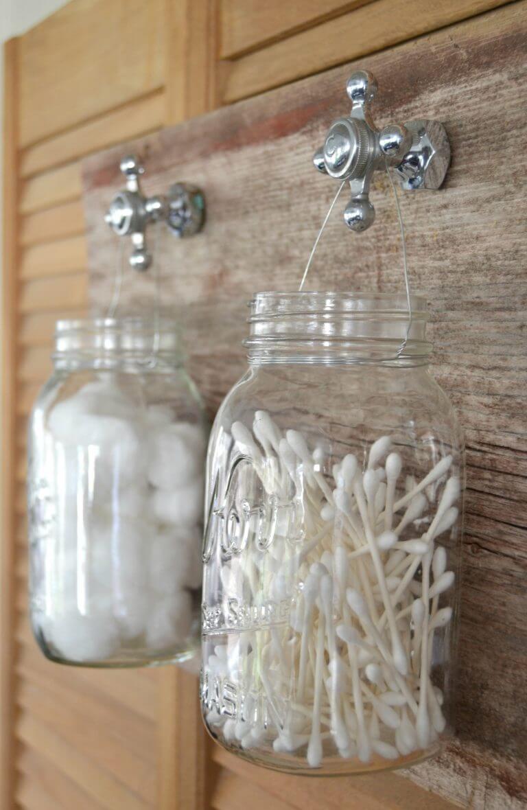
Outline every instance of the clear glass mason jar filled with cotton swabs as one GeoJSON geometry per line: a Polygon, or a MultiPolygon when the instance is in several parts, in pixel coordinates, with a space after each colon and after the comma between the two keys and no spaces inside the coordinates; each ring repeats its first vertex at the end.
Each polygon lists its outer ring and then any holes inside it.
{"type": "Polygon", "coordinates": [[[406,306],[257,294],[212,430],[202,712],[270,768],[407,767],[453,730],[463,450],[406,306]]]}

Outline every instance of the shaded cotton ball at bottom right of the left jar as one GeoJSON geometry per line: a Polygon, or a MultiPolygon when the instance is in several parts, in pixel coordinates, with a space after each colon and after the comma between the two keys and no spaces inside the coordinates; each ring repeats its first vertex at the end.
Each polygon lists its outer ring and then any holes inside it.
{"type": "Polygon", "coordinates": [[[147,621],[147,645],[164,650],[182,644],[192,624],[192,599],[187,590],[160,597],[151,605],[147,621]]]}

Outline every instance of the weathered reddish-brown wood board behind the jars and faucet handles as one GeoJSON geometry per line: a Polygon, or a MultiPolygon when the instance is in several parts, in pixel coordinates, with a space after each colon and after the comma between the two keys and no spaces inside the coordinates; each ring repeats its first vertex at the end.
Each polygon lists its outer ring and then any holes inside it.
{"type": "MultiPolygon", "coordinates": [[[[291,290],[300,281],[335,191],[311,156],[347,109],[351,70],[376,75],[380,124],[445,122],[453,164],[444,189],[402,194],[401,204],[413,287],[431,302],[433,370],[457,405],[468,448],[459,737],[410,776],[471,810],[519,810],[527,801],[527,191],[516,159],[525,131],[518,99],[527,83],[526,36],[527,3],[516,2],[125,147],[146,151],[151,192],[176,179],[206,190],[205,231],[183,244],[166,237],[163,275],[167,308],[185,323],[189,369],[214,412],[245,368],[245,301],[255,289],[291,290]]],[[[83,164],[96,309],[112,284],[101,215],[121,151],[83,164]]],[[[402,288],[397,214],[382,175],[372,198],[376,224],[360,237],[335,213],[311,288],[402,288]]],[[[126,279],[125,308],[144,311],[152,296],[148,275],[126,279]]],[[[344,782],[324,784],[342,806],[344,782]]],[[[291,796],[283,798],[304,807],[291,796]]],[[[389,808],[388,796],[385,802],[389,808]]]]}

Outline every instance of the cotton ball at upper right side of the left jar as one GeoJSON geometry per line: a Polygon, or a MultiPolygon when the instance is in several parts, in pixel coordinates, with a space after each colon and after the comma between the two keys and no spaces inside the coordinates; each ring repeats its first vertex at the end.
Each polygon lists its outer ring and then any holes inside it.
{"type": "Polygon", "coordinates": [[[205,436],[197,425],[170,424],[151,434],[148,480],[160,489],[184,487],[203,467],[205,436]]]}

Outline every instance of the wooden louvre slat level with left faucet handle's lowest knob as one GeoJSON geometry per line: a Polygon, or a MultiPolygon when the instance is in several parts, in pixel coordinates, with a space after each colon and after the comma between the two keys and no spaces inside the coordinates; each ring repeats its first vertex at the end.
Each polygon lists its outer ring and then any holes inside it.
{"type": "Polygon", "coordinates": [[[82,272],[86,267],[85,238],[70,237],[23,249],[19,276],[21,279],[38,279],[49,275],[82,272]]]}

